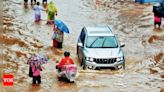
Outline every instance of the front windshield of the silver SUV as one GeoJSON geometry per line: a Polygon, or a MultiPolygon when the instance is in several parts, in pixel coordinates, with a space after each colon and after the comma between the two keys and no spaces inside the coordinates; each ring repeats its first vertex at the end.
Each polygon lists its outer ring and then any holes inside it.
{"type": "Polygon", "coordinates": [[[118,44],[114,36],[89,36],[87,48],[117,48],[118,44]]]}

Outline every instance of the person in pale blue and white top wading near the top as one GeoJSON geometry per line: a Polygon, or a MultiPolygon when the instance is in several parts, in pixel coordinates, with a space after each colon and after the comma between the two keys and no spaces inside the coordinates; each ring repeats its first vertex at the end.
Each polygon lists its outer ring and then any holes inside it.
{"type": "Polygon", "coordinates": [[[41,10],[43,10],[43,8],[40,6],[40,3],[37,2],[37,5],[35,5],[33,9],[35,11],[35,22],[39,22],[41,20],[41,10]]]}

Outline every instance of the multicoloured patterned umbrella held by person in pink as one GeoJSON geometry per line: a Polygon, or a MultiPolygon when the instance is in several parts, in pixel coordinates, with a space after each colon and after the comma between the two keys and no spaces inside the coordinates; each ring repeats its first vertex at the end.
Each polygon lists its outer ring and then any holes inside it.
{"type": "Polygon", "coordinates": [[[33,54],[31,55],[31,57],[28,59],[27,63],[30,65],[30,66],[33,66],[33,65],[42,65],[42,64],[46,64],[48,62],[48,57],[46,56],[43,56],[43,55],[36,55],[36,54],[33,54]]]}

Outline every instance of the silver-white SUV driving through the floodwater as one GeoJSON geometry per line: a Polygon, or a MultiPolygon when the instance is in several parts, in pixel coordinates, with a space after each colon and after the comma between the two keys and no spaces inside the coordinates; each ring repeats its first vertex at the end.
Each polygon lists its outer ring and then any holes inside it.
{"type": "Polygon", "coordinates": [[[125,58],[109,26],[83,27],[77,42],[77,54],[83,69],[125,69],[125,58]]]}

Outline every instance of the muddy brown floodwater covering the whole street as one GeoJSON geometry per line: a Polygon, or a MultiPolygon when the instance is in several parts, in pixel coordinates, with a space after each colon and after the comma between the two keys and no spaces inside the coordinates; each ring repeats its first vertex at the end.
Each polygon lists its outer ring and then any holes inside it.
{"type": "Polygon", "coordinates": [[[3,73],[14,74],[14,86],[0,84],[0,92],[163,92],[164,26],[153,28],[152,5],[118,0],[55,0],[55,4],[57,19],[70,29],[70,34],[64,34],[61,50],[52,48],[52,26],[46,25],[44,11],[42,21],[36,24],[31,5],[24,7],[23,0],[3,0],[0,68],[3,73]],[[118,39],[126,45],[126,70],[81,69],[76,56],[77,38],[83,26],[93,24],[113,26],[118,39]],[[71,52],[78,66],[75,83],[57,80],[56,60],[65,50],[71,52]],[[41,73],[40,86],[32,86],[28,77],[26,61],[33,52],[50,58],[41,73]]]}

